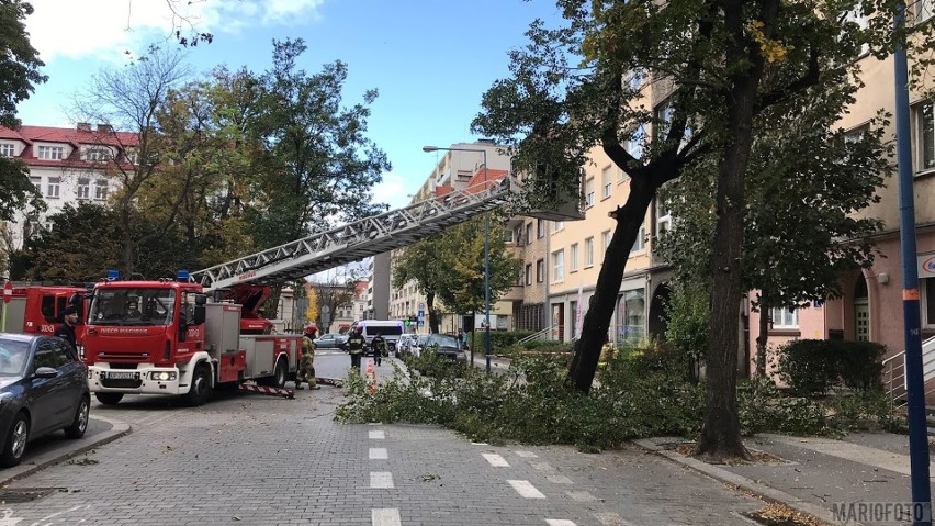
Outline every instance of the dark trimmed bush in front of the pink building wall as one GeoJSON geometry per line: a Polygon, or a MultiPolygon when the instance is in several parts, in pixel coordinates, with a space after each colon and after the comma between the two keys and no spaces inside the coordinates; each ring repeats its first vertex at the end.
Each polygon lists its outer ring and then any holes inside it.
{"type": "Polygon", "coordinates": [[[779,348],[779,377],[800,396],[826,394],[835,385],[878,389],[885,352],[874,342],[798,339],[779,348]]]}

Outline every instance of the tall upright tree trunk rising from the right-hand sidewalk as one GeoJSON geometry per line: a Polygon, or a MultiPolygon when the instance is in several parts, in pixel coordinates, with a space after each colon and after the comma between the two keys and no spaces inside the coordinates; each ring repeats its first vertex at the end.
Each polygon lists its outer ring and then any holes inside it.
{"type": "MultiPolygon", "coordinates": [[[[743,35],[740,7],[724,7],[728,30],[733,42],[728,45],[728,64],[743,64],[750,55],[743,35]]],[[[744,172],[753,145],[753,114],[763,67],[759,64],[739,71],[731,83],[725,138],[721,166],[718,168],[714,247],[711,258],[711,348],[708,351],[708,395],[705,422],[696,455],[708,461],[729,458],[750,459],[740,435],[737,415],[737,349],[740,348],[740,305],[743,298],[741,258],[743,251],[744,172]]]]}

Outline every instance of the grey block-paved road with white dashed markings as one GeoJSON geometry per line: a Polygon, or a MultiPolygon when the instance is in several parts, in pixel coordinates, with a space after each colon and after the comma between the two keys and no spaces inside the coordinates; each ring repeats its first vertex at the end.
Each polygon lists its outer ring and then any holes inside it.
{"type": "MultiPolygon", "coordinates": [[[[323,377],[349,365],[340,351],[316,358],[323,377]]],[[[763,505],[639,448],[584,455],[431,426],[341,425],[342,401],[325,387],[295,400],[219,394],[201,407],[95,404],[132,433],[12,482],[0,526],[750,525],[742,513],[763,505]]]]}

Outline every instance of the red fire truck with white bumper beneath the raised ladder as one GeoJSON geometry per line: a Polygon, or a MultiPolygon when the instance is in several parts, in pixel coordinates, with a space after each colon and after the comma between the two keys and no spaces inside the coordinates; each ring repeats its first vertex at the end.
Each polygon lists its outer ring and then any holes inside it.
{"type": "MultiPolygon", "coordinates": [[[[269,294],[257,288],[226,295],[269,294]]],[[[230,300],[210,301],[187,276],[98,283],[85,334],[91,392],[103,404],[124,394],[181,394],[200,405],[213,389],[244,380],[282,388],[296,370],[302,336],[263,334],[261,304],[245,311],[230,300]]]]}

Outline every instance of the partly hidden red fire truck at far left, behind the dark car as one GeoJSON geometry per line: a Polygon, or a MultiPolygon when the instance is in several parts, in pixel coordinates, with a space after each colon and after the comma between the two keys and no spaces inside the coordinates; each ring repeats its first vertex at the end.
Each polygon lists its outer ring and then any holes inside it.
{"type": "MultiPolygon", "coordinates": [[[[7,304],[8,333],[45,334],[55,333],[61,323],[61,314],[69,305],[82,309],[87,289],[67,286],[13,286],[12,298],[7,304]]],[[[83,310],[82,310],[83,312],[83,310]]],[[[78,316],[76,337],[81,343],[83,323],[78,316]]]]}

